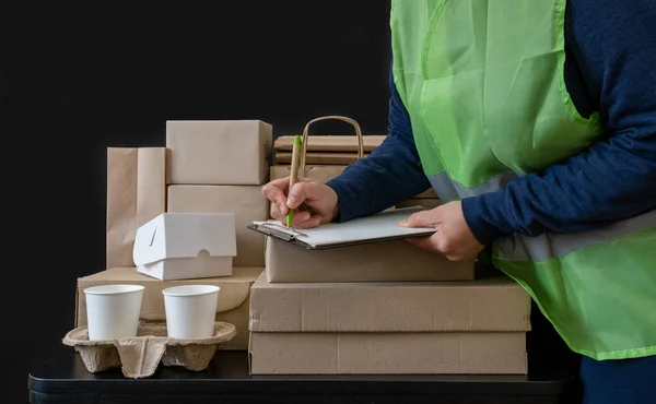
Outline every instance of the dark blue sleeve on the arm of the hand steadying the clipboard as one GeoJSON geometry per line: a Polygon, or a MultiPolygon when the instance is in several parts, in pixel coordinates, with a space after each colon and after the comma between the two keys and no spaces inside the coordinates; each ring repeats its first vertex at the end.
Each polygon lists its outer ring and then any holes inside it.
{"type": "Polygon", "coordinates": [[[656,2],[570,4],[571,47],[608,136],[502,191],[462,200],[481,243],[587,230],[656,206],[656,2]]]}

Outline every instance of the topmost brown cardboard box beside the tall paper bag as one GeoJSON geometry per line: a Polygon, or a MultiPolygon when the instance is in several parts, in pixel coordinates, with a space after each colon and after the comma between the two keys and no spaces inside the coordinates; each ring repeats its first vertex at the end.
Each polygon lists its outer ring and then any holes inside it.
{"type": "Polygon", "coordinates": [[[260,120],[167,121],[167,183],[263,185],[272,127],[260,120]]]}

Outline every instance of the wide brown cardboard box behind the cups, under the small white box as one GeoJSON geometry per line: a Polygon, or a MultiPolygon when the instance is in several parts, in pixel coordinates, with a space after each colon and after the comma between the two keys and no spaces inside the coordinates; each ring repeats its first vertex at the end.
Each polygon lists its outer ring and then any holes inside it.
{"type": "Polygon", "coordinates": [[[166,321],[163,289],[178,285],[215,285],[221,288],[216,307],[216,321],[224,321],[237,328],[235,337],[225,344],[219,345],[219,348],[246,350],[248,348],[250,287],[262,271],[263,268],[238,268],[234,269],[233,275],[227,277],[185,281],[155,280],[139,273],[136,268],[117,268],[102,271],[78,278],[74,326],[86,325],[84,289],[91,286],[120,283],[144,286],[140,318],[145,323],[156,324],[166,321]]]}

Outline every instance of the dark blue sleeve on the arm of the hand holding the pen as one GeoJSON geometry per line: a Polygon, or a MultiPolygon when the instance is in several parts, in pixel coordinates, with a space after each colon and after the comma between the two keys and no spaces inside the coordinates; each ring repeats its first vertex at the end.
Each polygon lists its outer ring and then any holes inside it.
{"type": "Polygon", "coordinates": [[[382,212],[431,187],[417,153],[410,117],[391,73],[389,86],[387,136],[366,158],[327,182],[338,195],[339,222],[382,212]]]}

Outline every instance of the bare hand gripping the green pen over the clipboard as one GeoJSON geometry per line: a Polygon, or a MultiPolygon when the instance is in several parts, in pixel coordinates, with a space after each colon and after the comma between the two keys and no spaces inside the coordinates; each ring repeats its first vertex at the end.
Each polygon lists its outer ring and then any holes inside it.
{"type": "Polygon", "coordinates": [[[337,193],[332,188],[309,179],[300,179],[291,192],[288,192],[289,188],[289,177],[274,179],[262,188],[262,194],[271,201],[271,217],[283,225],[286,225],[290,209],[295,210],[294,228],[317,227],[337,217],[337,193]]]}

